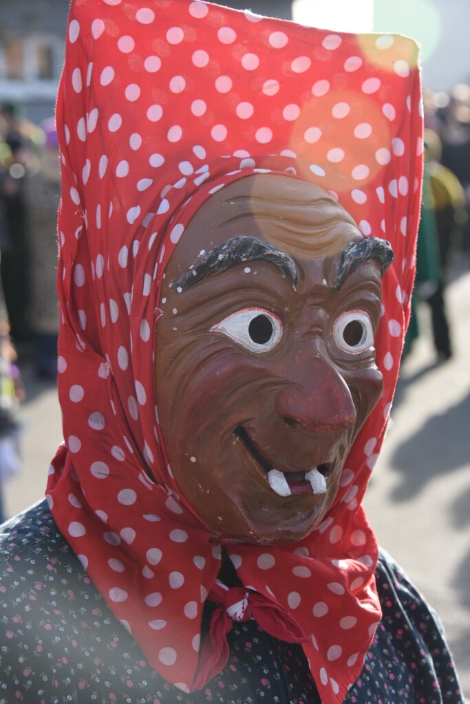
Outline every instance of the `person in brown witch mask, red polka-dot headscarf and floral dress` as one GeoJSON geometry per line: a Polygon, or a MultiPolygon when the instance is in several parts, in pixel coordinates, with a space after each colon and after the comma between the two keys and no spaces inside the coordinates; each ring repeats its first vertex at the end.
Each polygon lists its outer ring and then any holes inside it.
{"type": "Polygon", "coordinates": [[[416,43],[190,0],[75,0],[67,36],[65,441],[2,527],[2,694],[462,704],[361,506],[414,279],[416,43]]]}

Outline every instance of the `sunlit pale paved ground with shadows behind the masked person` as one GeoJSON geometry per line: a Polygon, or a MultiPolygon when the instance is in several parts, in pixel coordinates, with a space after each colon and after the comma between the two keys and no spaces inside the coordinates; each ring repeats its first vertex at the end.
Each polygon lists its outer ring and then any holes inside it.
{"type": "MultiPolygon", "coordinates": [[[[440,613],[470,696],[470,272],[447,289],[454,357],[436,366],[428,336],[405,360],[392,427],[366,508],[379,540],[440,613]]],[[[428,324],[426,310],[421,322],[428,324]]],[[[23,364],[25,469],[6,487],[11,515],[44,495],[61,441],[53,384],[23,364]]]]}

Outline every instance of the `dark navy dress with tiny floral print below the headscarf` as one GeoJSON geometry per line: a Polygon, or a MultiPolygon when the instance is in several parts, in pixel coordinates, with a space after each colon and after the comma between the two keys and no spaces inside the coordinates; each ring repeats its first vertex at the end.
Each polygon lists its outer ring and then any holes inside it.
{"type": "MultiPolygon", "coordinates": [[[[168,684],[113,617],[45,501],[4,524],[0,560],[0,704],[321,704],[302,648],[253,620],[233,625],[228,663],[202,691],[168,684]]],[[[435,613],[385,553],[376,577],[383,619],[345,703],[462,704],[435,613]]]]}

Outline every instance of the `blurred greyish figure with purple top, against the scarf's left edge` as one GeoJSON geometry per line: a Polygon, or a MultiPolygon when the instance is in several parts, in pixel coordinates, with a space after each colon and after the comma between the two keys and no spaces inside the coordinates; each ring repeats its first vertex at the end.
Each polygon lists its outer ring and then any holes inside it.
{"type": "Polygon", "coordinates": [[[56,379],[58,300],[57,209],[61,168],[54,118],[41,123],[44,144],[25,179],[25,203],[30,222],[29,324],[35,346],[35,370],[42,379],[56,379]]]}

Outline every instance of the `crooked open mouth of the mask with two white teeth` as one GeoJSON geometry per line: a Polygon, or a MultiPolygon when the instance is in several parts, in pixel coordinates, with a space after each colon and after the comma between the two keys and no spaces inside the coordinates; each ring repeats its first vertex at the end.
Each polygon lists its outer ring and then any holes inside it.
{"type": "Polygon", "coordinates": [[[240,439],[247,452],[252,455],[252,458],[256,460],[261,470],[264,470],[269,486],[278,496],[326,493],[326,482],[331,472],[330,463],[316,465],[307,470],[307,472],[281,472],[276,470],[266,456],[261,453],[244,427],[238,425],[234,434],[235,437],[240,439]]]}

